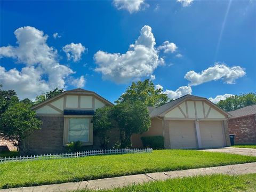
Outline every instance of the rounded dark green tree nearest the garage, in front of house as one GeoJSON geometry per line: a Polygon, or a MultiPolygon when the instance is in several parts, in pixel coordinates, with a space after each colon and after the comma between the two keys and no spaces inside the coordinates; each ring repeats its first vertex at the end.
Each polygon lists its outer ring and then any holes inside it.
{"type": "Polygon", "coordinates": [[[132,134],[146,132],[151,125],[147,106],[141,101],[114,106],[112,117],[119,127],[121,148],[131,147],[132,134]]]}

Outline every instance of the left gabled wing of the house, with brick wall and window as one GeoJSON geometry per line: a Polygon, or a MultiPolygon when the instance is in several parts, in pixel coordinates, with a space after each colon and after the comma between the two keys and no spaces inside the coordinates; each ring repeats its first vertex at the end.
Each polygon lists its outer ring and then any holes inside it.
{"type": "MultiPolygon", "coordinates": [[[[84,150],[101,148],[100,139],[93,135],[91,122],[94,111],[113,103],[95,92],[83,89],[64,91],[47,99],[31,109],[36,111],[43,122],[42,129],[34,131],[21,148],[30,154],[50,154],[67,152],[67,143],[82,141],[84,150]]],[[[119,140],[116,129],[110,131],[112,146],[119,140]]]]}

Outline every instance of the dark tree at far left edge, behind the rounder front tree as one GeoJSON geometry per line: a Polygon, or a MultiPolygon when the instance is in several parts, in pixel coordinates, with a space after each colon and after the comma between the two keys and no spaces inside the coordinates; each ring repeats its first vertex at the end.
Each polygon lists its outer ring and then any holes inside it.
{"type": "Polygon", "coordinates": [[[19,98],[14,90],[2,90],[0,84],[0,115],[13,103],[19,102],[19,98]]]}

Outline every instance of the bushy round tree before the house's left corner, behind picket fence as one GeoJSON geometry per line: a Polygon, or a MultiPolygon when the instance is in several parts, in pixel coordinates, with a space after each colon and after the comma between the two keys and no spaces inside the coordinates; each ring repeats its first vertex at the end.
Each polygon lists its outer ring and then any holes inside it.
{"type": "MultiPolygon", "coordinates": [[[[40,129],[41,125],[41,120],[29,105],[22,102],[14,103],[1,115],[0,135],[18,146],[34,130],[40,129]]],[[[26,152],[25,142],[23,150],[26,152]]]]}

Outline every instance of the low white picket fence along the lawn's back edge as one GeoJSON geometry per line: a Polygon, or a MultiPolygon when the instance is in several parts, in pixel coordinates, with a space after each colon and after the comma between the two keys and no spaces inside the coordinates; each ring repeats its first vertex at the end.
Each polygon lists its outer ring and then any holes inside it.
{"type": "Polygon", "coordinates": [[[81,151],[76,153],[62,153],[62,154],[44,154],[44,155],[31,155],[31,156],[17,156],[17,157],[1,157],[0,163],[10,161],[30,161],[39,159],[57,159],[57,158],[71,158],[71,157],[85,157],[92,155],[105,155],[105,154],[132,154],[132,153],[152,153],[152,148],[147,149],[106,149],[106,150],[90,150],[81,151]]]}

